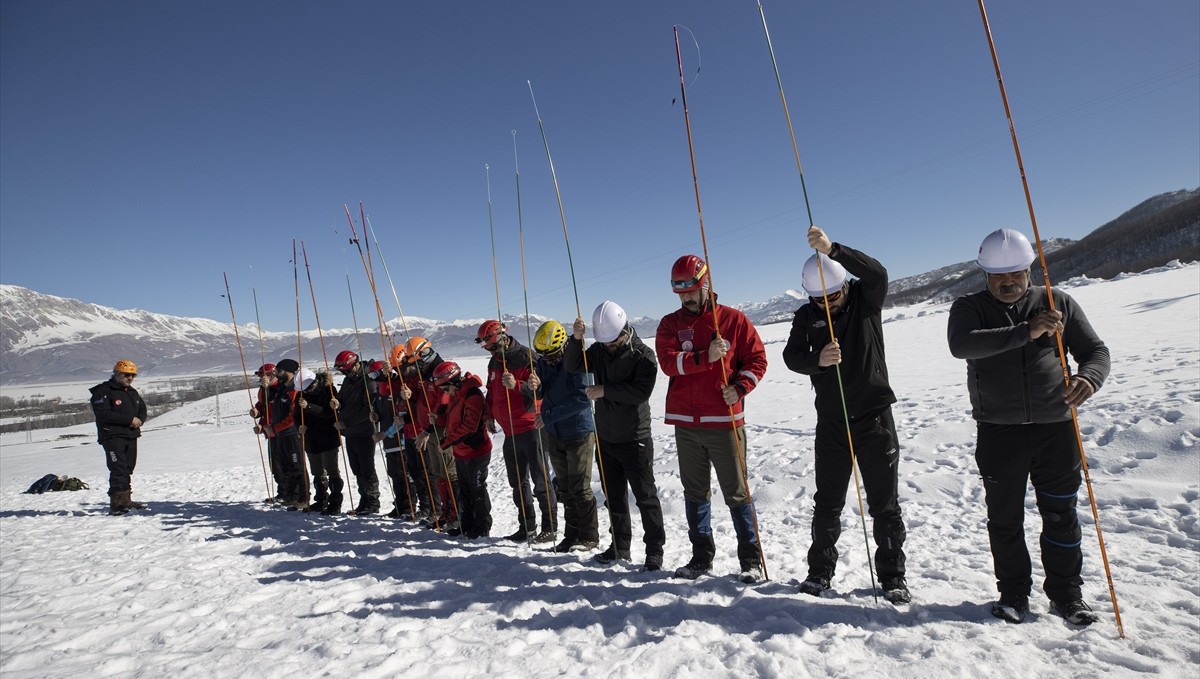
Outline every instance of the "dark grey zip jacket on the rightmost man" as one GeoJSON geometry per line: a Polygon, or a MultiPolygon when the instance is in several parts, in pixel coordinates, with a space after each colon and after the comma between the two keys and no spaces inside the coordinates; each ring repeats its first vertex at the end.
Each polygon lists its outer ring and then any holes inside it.
{"type": "MultiPolygon", "coordinates": [[[[1109,375],[1109,348],[1070,295],[1051,292],[1055,308],[1062,312],[1063,344],[1079,363],[1076,374],[1099,391],[1109,375]]],[[[1025,425],[1070,419],[1070,407],[1062,399],[1066,385],[1058,342],[1054,335],[1030,340],[1028,319],[1049,308],[1046,289],[1037,286],[1012,305],[980,290],[959,298],[950,307],[946,335],[950,354],[967,360],[967,391],[976,421],[1025,425]]]]}

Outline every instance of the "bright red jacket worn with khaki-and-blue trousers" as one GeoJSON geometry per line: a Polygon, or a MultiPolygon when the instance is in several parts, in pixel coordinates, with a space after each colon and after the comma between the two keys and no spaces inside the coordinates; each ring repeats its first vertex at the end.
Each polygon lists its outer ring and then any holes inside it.
{"type": "Polygon", "coordinates": [[[671,378],[662,417],[665,423],[727,429],[733,426],[731,408],[737,426],[745,423],[743,401],[739,399],[731,407],[721,397],[724,374],[728,374],[730,384],[737,387],[743,398],[767,374],[767,350],[758,331],[744,313],[716,305],[713,298],[709,298],[707,308],[700,314],[680,308],[659,322],[654,351],[658,354],[659,367],[671,378]],[[708,345],[716,336],[713,325],[714,305],[721,338],[730,343],[730,350],[722,361],[725,373],[720,362],[708,362],[708,345]]]}

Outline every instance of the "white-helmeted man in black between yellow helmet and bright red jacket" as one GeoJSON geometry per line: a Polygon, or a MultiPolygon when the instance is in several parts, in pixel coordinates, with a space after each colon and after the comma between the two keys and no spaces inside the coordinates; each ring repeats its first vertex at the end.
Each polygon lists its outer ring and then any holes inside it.
{"type": "MultiPolygon", "coordinates": [[[[654,350],[625,322],[625,311],[606,301],[593,314],[596,341],[587,348],[584,365],[582,318],[575,319],[574,334],[563,347],[563,361],[574,373],[590,373],[587,397],[595,402],[596,438],[605,482],[605,504],[612,522],[612,545],[594,558],[601,564],[629,560],[632,523],[629,491],[642,515],[647,571],[662,569],[662,506],[654,483],[654,440],[650,438],[650,392],[659,366],[654,350]]],[[[587,380],[586,380],[587,381],[587,380]]]]}

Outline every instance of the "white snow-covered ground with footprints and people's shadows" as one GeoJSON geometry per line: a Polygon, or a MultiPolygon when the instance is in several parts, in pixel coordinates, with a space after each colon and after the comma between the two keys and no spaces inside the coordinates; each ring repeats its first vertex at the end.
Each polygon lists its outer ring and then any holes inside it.
{"type": "MultiPolygon", "coordinates": [[[[748,401],[749,473],[770,581],[745,587],[728,516],[714,512],[716,577],[688,583],[497,537],[462,541],[385,518],[268,509],[246,416],[214,399],[146,425],[134,497],[106,513],[91,425],[0,439],[0,672],[30,677],[1188,677],[1200,674],[1200,266],[1072,281],[1112,351],[1080,425],[1127,633],[1117,638],[1086,500],[1085,597],[1075,629],[1038,590],[1033,615],[989,614],[995,581],[973,462],[965,365],[947,305],[887,312],[900,402],[901,499],[914,601],[874,601],[857,500],[844,516],[836,593],[805,575],[815,416],[780,357],[787,324],[760,329],[772,361],[748,401]],[[28,495],[47,473],[90,491],[28,495]]],[[[664,312],[673,304],[662,294],[664,312]]],[[[563,319],[566,320],[566,319],[563,319]]],[[[481,371],[484,355],[463,363],[481,371]]],[[[98,379],[97,379],[98,381],[98,379]]],[[[666,381],[652,398],[661,417],[666,381]]],[[[85,397],[80,387],[78,396],[85,397]]],[[[690,555],[670,429],[655,425],[667,570],[690,555]]],[[[380,475],[383,474],[379,461],[380,475]]],[[[599,494],[599,481],[595,483],[599,494]]],[[[496,525],[516,527],[493,456],[496,525]]],[[[390,503],[384,503],[390,509],[390,503]]],[[[714,509],[716,509],[714,506],[714,509]]],[[[635,512],[636,515],[636,512],[635,512]]],[[[601,511],[601,533],[607,527],[601,511]]]]}

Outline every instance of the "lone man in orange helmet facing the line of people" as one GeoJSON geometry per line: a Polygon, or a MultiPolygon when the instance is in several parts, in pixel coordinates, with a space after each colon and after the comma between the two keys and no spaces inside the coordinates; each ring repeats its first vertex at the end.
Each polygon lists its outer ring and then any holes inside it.
{"type": "Polygon", "coordinates": [[[131,509],[145,509],[132,499],[133,468],[138,463],[138,437],[146,420],[146,404],[133,378],[138,366],[120,360],[113,377],[91,387],[91,409],[96,414],[96,439],[104,447],[108,465],[109,513],[122,515],[131,509]]]}

